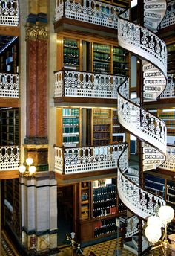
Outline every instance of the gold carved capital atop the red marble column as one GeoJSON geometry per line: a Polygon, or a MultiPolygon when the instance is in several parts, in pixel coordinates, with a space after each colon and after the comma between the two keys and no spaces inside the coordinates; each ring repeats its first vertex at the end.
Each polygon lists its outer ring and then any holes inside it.
{"type": "Polygon", "coordinates": [[[26,30],[26,41],[31,40],[37,40],[37,39],[47,39],[48,38],[48,32],[47,27],[41,24],[31,24],[28,23],[25,25],[26,30]]]}

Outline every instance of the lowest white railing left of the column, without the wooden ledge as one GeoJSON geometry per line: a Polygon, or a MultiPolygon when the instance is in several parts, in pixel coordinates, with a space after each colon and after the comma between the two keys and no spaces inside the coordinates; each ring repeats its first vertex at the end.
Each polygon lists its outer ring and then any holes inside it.
{"type": "Polygon", "coordinates": [[[0,147],[0,171],[19,168],[19,146],[0,147]]]}

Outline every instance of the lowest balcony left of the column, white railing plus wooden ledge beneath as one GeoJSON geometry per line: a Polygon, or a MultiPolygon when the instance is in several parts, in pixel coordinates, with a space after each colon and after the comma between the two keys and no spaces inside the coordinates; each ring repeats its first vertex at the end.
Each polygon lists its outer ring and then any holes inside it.
{"type": "Polygon", "coordinates": [[[17,178],[19,175],[19,146],[0,147],[0,179],[17,178]]]}

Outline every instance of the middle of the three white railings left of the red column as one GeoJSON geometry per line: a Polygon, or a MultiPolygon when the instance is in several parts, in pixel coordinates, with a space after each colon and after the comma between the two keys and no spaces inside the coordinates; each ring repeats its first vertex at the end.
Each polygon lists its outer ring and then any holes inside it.
{"type": "Polygon", "coordinates": [[[19,97],[19,75],[0,73],[0,97],[19,97]]]}

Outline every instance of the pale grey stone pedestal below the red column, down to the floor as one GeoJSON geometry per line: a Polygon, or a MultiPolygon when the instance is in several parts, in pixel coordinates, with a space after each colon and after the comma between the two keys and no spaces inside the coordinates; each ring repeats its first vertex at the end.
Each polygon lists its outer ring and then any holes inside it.
{"type": "Polygon", "coordinates": [[[22,244],[26,255],[56,255],[57,184],[53,172],[19,179],[22,193],[22,244]]]}

